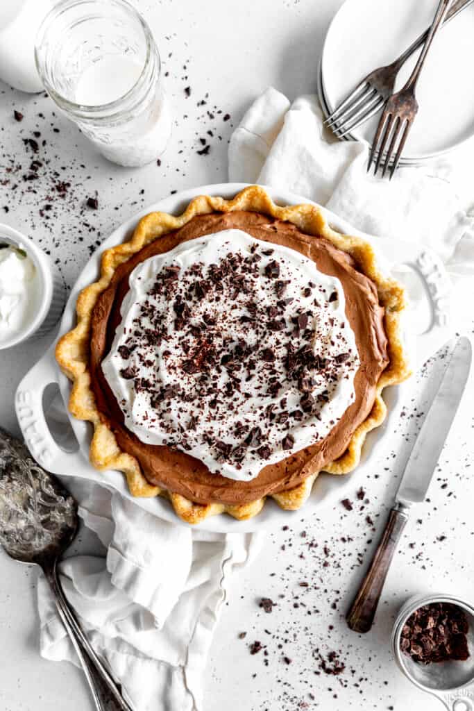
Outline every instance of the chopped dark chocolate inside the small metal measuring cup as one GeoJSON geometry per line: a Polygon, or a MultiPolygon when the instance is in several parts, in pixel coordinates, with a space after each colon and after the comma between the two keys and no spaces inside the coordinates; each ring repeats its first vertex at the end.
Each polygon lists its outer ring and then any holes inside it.
{"type": "Polygon", "coordinates": [[[465,661],[468,616],[451,602],[433,602],[415,610],[402,628],[400,648],[419,664],[465,661]]]}

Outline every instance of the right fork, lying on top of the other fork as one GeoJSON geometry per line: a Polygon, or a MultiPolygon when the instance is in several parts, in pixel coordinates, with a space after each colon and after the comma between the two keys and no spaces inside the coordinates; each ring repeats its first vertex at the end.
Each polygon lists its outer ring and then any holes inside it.
{"type": "Polygon", "coordinates": [[[372,150],[370,151],[369,163],[367,165],[367,171],[370,170],[370,166],[375,159],[377,154],[377,161],[375,161],[374,175],[380,166],[382,166],[382,178],[384,177],[387,168],[392,160],[392,155],[397,146],[397,153],[392,161],[392,166],[390,167],[390,180],[394,176],[394,172],[397,170],[399,164],[400,156],[402,156],[402,151],[406,143],[406,139],[410,132],[411,126],[413,125],[414,118],[416,117],[416,112],[418,112],[418,102],[416,101],[415,90],[416,84],[419,80],[419,75],[421,69],[423,68],[426,55],[428,54],[431,43],[435,38],[438,30],[441,28],[441,23],[446,15],[449,7],[451,6],[453,0],[441,0],[436,10],[436,15],[433,19],[433,24],[429,29],[428,37],[424,43],[424,47],[421,50],[419,58],[416,62],[414,70],[411,72],[409,80],[406,82],[404,87],[397,93],[393,94],[387,104],[385,105],[382,117],[380,117],[379,125],[377,127],[377,133],[375,134],[375,139],[372,142],[372,150]],[[400,140],[398,140],[400,137],[400,140]],[[387,141],[389,141],[389,148],[387,154],[384,158],[384,163],[382,165],[382,158],[384,155],[385,146],[387,141]],[[398,141],[398,145],[397,145],[398,141]]]}

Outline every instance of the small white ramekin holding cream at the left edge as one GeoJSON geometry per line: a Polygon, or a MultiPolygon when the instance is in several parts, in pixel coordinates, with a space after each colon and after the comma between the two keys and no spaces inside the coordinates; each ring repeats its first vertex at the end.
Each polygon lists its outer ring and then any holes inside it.
{"type": "Polygon", "coordinates": [[[34,264],[38,278],[38,303],[26,326],[0,341],[0,351],[18,346],[31,336],[44,336],[58,322],[63,313],[65,290],[56,269],[43,250],[28,237],[9,225],[0,223],[0,243],[6,242],[20,247],[34,264]]]}

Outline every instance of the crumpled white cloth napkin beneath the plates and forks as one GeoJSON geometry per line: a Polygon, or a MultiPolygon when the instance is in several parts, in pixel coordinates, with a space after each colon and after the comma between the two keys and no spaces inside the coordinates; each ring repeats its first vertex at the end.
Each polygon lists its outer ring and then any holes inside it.
{"type": "Polygon", "coordinates": [[[325,205],[369,235],[416,240],[438,252],[463,293],[474,276],[474,141],[393,180],[367,174],[367,143],[338,141],[318,98],[293,104],[269,87],[230,140],[229,180],[285,189],[325,205]]]}

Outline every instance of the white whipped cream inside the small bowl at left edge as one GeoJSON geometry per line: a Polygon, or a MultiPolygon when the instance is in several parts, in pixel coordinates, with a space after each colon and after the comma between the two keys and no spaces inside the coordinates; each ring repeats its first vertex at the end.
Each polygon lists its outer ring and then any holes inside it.
{"type": "Polygon", "coordinates": [[[10,338],[31,320],[37,291],[36,269],[15,245],[4,245],[0,235],[0,339],[10,338]]]}

